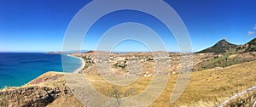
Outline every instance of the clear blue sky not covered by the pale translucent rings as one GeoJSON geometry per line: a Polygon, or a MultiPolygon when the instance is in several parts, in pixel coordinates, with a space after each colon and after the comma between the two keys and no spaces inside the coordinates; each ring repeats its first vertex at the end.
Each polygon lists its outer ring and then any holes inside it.
{"type": "MultiPolygon", "coordinates": [[[[61,51],[62,40],[73,16],[88,0],[0,0],[0,51],[61,51]]],[[[189,31],[194,51],[212,46],[225,38],[243,44],[256,37],[255,0],[166,0],[180,15],[189,31]]],[[[140,22],[153,27],[169,51],[179,51],[170,32],[154,17],[123,10],[108,14],[90,29],[83,49],[95,49],[109,27],[122,22],[140,22]],[[147,20],[144,20],[147,19],[147,20]]],[[[132,42],[137,51],[143,45],[132,42]]],[[[129,41],[120,49],[131,49],[129,41]]]]}

